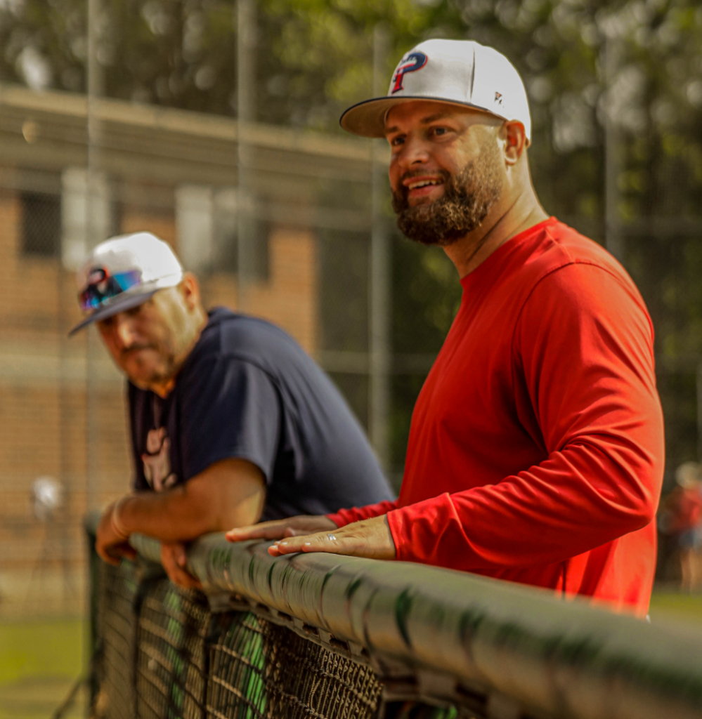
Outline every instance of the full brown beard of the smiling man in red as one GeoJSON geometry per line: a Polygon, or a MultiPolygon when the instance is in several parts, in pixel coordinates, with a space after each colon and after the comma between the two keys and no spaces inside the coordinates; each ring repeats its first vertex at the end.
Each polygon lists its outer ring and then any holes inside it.
{"type": "MultiPolygon", "coordinates": [[[[498,148],[486,145],[480,157],[457,175],[441,170],[444,193],[433,202],[410,206],[408,188],[401,186],[393,191],[398,228],[414,242],[439,247],[447,247],[473,232],[483,223],[502,193],[498,161],[498,148]]],[[[402,179],[425,174],[425,171],[417,170],[406,173],[402,179]]]]}

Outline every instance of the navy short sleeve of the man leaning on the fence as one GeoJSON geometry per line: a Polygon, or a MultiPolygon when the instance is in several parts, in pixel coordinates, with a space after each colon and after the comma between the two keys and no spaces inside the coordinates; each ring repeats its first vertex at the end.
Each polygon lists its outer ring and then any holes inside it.
{"type": "Polygon", "coordinates": [[[183,479],[236,457],[270,483],[281,426],[281,400],[268,374],[240,359],[209,357],[188,373],[181,404],[183,479]]]}

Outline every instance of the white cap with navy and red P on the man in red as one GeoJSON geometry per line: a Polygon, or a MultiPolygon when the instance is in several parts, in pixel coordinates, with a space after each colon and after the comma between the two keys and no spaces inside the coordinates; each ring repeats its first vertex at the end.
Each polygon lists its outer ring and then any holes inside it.
{"type": "Polygon", "coordinates": [[[350,107],[341,126],[362,137],[385,137],[388,110],[408,100],[447,102],[518,120],[526,139],[532,139],[529,101],[519,73],[500,52],[473,40],[420,42],[398,63],[387,96],[350,107]]]}

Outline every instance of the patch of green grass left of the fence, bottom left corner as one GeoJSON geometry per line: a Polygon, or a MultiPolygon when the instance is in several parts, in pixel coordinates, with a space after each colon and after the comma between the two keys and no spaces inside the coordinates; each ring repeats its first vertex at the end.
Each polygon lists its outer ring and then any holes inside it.
{"type": "MultiPolygon", "coordinates": [[[[0,719],[47,719],[83,668],[81,619],[0,624],[0,719]]],[[[66,719],[84,716],[83,698],[66,719]]]]}

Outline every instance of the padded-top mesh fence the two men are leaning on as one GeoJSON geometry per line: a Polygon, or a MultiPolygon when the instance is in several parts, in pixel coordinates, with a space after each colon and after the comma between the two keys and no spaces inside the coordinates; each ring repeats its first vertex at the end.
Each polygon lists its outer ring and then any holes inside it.
{"type": "MultiPolygon", "coordinates": [[[[95,518],[88,521],[94,538],[95,518]]],[[[91,545],[94,719],[702,717],[702,641],[459,572],[206,536],[205,592],[91,545]]]]}

